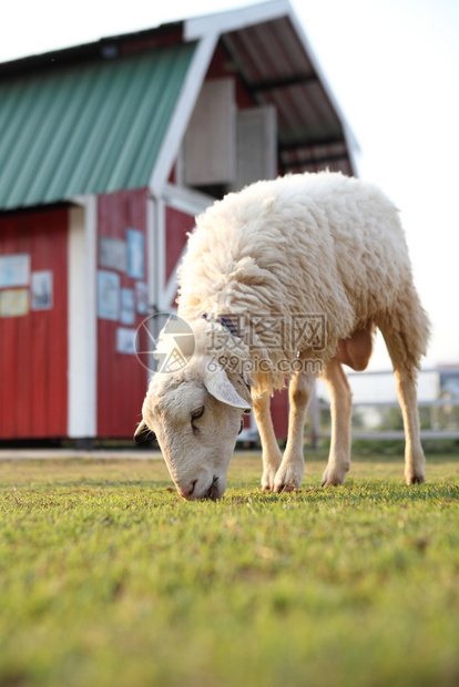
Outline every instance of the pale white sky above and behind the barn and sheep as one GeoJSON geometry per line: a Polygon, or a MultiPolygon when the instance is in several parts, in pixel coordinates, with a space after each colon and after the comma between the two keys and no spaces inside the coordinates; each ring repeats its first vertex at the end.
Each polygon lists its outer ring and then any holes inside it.
{"type": "MultiPolygon", "coordinates": [[[[17,0],[0,23],[0,62],[248,4],[17,0]]],[[[459,365],[459,0],[290,4],[359,143],[359,176],[400,209],[432,324],[425,367],[459,365]]],[[[370,369],[389,367],[378,339],[370,369]]]]}

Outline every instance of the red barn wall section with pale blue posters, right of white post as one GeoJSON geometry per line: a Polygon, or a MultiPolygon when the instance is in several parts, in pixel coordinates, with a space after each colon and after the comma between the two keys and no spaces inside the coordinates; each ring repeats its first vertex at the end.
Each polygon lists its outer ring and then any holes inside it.
{"type": "Polygon", "coordinates": [[[147,372],[135,357],[132,344],[135,330],[146,315],[136,290],[139,285],[144,288],[147,278],[146,201],[146,189],[122,191],[99,197],[99,437],[132,437],[141,419],[147,372]],[[131,229],[135,232],[134,238],[143,243],[143,259],[134,249],[137,244],[131,243],[131,229]],[[118,240],[110,243],[106,239],[118,240]],[[124,307],[122,294],[129,296],[124,307]]]}

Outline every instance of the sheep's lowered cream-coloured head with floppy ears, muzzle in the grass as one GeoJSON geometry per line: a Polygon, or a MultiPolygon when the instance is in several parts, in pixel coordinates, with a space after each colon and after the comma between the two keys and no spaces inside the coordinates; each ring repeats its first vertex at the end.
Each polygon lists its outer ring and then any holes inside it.
{"type": "Polygon", "coordinates": [[[237,373],[197,356],[183,369],[154,375],[135,440],[156,435],[183,499],[220,499],[251,393],[237,373]],[[216,369],[215,369],[216,368],[216,369]]]}

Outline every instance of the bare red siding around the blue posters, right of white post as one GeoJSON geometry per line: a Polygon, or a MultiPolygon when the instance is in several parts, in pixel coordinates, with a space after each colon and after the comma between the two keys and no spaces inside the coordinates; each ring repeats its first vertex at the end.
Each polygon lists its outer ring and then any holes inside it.
{"type": "MultiPolygon", "coordinates": [[[[121,191],[99,197],[98,246],[101,236],[126,239],[126,229],[143,233],[145,246],[144,278],[133,279],[119,270],[121,288],[135,289],[137,280],[146,283],[146,189],[121,191]]],[[[98,269],[105,270],[100,264],[98,269]]],[[[109,269],[109,271],[114,271],[109,269]]],[[[135,294],[134,294],[135,303],[135,294]]],[[[135,307],[136,310],[136,307],[135,307]]],[[[99,437],[132,437],[141,420],[142,401],[145,396],[147,372],[133,355],[116,351],[119,327],[136,329],[144,315],[135,311],[133,325],[98,317],[98,430],[99,437]]]]}

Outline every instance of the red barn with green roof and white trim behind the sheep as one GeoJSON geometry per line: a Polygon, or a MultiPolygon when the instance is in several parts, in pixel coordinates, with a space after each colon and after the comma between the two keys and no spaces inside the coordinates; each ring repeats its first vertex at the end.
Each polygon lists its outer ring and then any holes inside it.
{"type": "Polygon", "coordinates": [[[354,148],[285,0],[0,64],[0,440],[132,437],[195,214],[354,148]]]}

